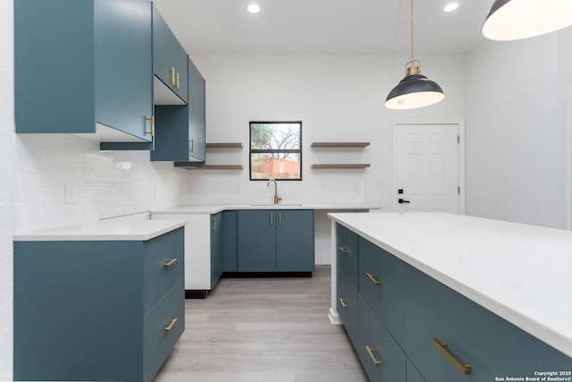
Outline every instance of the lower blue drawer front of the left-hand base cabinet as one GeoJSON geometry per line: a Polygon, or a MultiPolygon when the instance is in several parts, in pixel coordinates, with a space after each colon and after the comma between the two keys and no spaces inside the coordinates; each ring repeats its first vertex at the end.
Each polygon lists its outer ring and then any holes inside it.
{"type": "Polygon", "coordinates": [[[150,381],[185,330],[185,291],[181,281],[144,319],[144,378],[150,381]],[[176,318],[176,322],[172,320],[176,318]],[[171,327],[169,327],[171,326],[171,327]],[[167,331],[165,327],[168,327],[167,331]]]}

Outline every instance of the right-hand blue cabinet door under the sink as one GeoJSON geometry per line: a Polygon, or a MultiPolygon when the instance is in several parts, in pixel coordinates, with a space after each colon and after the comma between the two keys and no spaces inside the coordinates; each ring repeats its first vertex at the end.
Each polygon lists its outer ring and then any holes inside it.
{"type": "Polygon", "coordinates": [[[279,209],[276,225],[276,270],[314,271],[314,211],[279,209]]]}

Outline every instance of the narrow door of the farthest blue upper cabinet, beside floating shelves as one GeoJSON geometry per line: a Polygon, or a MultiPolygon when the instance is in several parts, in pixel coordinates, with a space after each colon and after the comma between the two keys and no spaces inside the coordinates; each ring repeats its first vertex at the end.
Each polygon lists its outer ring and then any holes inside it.
{"type": "Polygon", "coordinates": [[[192,162],[205,161],[206,100],[205,79],[189,59],[189,157],[192,162]]]}

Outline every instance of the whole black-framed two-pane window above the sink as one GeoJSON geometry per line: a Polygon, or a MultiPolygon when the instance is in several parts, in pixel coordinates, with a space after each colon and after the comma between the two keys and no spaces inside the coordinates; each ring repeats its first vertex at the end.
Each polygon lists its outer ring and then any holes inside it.
{"type": "Polygon", "coordinates": [[[250,180],[302,180],[302,122],[250,123],[250,180]]]}

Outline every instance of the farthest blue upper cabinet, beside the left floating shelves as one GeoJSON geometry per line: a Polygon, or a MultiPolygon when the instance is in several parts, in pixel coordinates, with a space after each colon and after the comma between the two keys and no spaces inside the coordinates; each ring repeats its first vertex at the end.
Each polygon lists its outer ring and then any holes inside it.
{"type": "Polygon", "coordinates": [[[175,165],[205,163],[205,80],[189,65],[189,105],[156,105],[155,150],[151,160],[175,165]]]}

